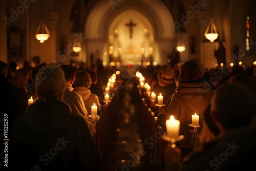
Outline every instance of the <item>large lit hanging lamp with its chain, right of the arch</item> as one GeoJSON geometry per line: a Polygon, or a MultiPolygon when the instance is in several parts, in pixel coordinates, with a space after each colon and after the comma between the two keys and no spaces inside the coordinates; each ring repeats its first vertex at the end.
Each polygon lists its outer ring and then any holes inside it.
{"type": "Polygon", "coordinates": [[[214,17],[212,17],[212,1],[211,1],[211,10],[210,10],[211,11],[210,20],[209,20],[208,26],[204,32],[204,36],[208,40],[210,40],[210,42],[214,42],[214,40],[216,40],[219,36],[219,34],[217,33],[215,23],[214,23],[214,17]]]}

